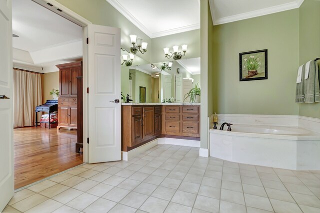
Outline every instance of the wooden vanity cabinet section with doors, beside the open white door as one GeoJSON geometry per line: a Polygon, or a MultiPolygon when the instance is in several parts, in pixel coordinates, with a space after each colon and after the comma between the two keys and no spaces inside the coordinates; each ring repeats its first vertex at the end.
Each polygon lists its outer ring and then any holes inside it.
{"type": "Polygon", "coordinates": [[[122,151],[154,140],[161,134],[161,106],[121,106],[122,151]]]}

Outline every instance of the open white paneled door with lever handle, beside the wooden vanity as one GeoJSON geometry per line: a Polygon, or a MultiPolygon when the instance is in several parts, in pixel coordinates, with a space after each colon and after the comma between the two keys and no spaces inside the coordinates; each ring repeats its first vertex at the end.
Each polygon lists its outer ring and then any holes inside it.
{"type": "Polygon", "coordinates": [[[121,160],[120,74],[120,29],[89,24],[89,163],[121,160]]]}

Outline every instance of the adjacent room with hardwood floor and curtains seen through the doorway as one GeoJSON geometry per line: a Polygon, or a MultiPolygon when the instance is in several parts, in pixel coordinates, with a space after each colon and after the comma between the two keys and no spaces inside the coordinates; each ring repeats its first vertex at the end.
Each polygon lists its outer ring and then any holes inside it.
{"type": "Polygon", "coordinates": [[[34,1],[13,0],[12,28],[17,189],[83,162],[75,147],[82,27],[34,1]]]}

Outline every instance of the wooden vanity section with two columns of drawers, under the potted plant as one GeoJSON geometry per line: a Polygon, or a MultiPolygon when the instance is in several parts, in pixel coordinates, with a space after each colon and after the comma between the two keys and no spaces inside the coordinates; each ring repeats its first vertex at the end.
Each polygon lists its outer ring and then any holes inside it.
{"type": "Polygon", "coordinates": [[[199,105],[162,107],[162,135],[200,137],[199,105]]]}

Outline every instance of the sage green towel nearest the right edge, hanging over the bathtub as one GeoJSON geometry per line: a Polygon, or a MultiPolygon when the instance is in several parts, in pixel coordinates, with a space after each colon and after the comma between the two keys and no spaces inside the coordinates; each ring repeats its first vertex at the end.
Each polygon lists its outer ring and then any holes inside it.
{"type": "MultiPolygon", "coordinates": [[[[307,79],[304,79],[304,103],[314,103],[320,101],[320,89],[319,89],[319,73],[318,66],[315,61],[307,62],[305,66],[309,64],[309,75],[307,79]]],[[[307,67],[306,67],[307,68],[307,67]]],[[[307,69],[305,69],[307,71],[307,69]]],[[[305,75],[306,76],[306,75],[305,75]]]]}

